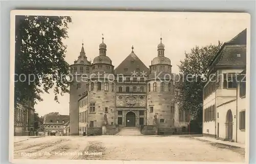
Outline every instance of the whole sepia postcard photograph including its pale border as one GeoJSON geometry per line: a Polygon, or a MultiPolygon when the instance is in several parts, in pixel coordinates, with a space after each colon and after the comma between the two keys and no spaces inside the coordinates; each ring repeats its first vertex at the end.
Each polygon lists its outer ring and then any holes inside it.
{"type": "Polygon", "coordinates": [[[12,162],[248,162],[249,14],[13,10],[10,30],[12,162]]]}

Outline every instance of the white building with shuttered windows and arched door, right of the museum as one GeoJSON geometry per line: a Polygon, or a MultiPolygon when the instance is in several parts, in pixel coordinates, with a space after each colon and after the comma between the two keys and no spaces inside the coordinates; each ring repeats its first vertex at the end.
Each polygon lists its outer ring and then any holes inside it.
{"type": "Polygon", "coordinates": [[[245,143],[245,69],[246,29],[225,42],[210,64],[203,93],[204,136],[245,143]]]}

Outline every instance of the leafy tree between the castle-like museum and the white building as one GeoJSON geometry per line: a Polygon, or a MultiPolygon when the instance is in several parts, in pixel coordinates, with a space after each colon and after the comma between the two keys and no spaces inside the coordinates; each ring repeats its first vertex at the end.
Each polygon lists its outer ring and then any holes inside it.
{"type": "Polygon", "coordinates": [[[206,45],[202,48],[196,46],[190,53],[185,52],[185,59],[180,61],[179,69],[182,74],[180,83],[180,95],[176,102],[183,110],[190,110],[191,119],[198,124],[202,123],[203,87],[206,83],[206,75],[209,65],[222,46],[206,45]]]}

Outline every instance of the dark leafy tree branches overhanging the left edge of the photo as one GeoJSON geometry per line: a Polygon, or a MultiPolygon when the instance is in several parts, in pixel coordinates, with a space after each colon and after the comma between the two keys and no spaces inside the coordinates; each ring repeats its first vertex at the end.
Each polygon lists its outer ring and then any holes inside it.
{"type": "Polygon", "coordinates": [[[54,88],[54,100],[69,92],[65,61],[68,16],[23,16],[15,19],[15,104],[42,101],[40,93],[54,88]],[[26,77],[26,78],[25,78],[26,77]],[[40,87],[43,86],[43,89],[40,87]]]}

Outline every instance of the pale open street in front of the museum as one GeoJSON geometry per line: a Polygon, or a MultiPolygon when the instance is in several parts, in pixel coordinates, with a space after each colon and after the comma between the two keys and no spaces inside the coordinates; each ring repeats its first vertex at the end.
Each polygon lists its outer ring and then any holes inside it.
{"type": "Polygon", "coordinates": [[[23,159],[244,162],[243,148],[180,136],[15,137],[14,142],[14,158],[23,159]]]}

